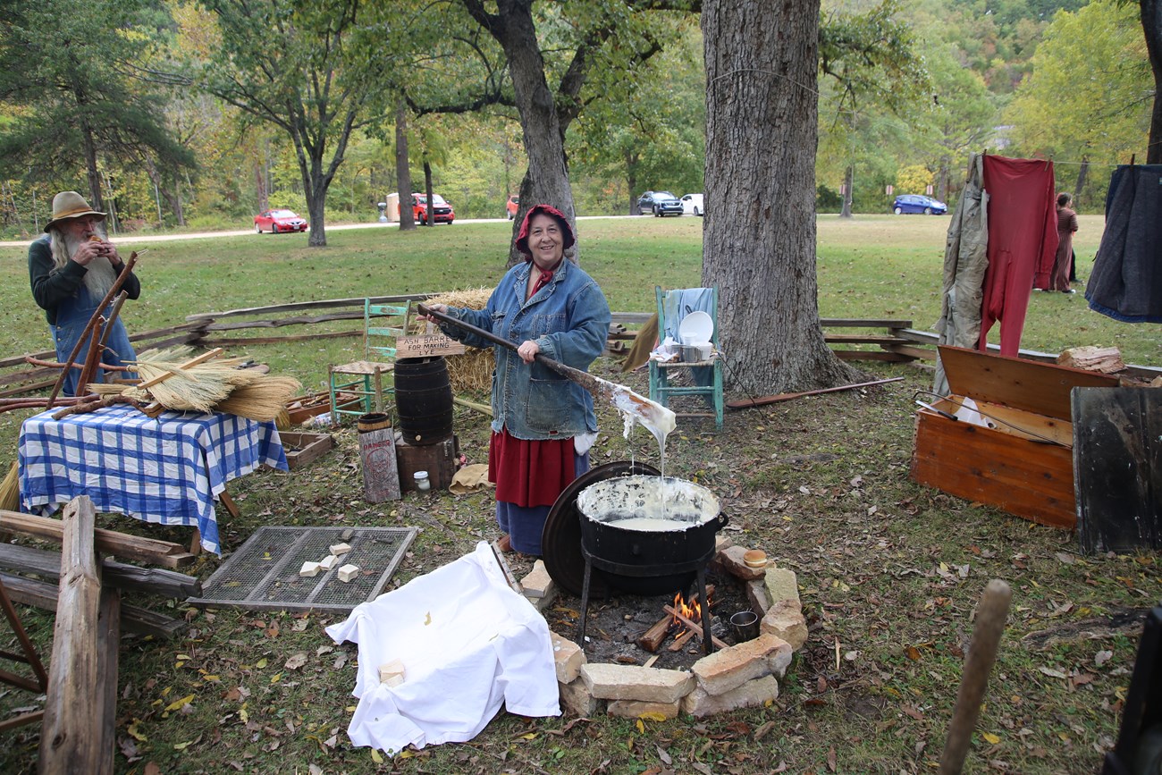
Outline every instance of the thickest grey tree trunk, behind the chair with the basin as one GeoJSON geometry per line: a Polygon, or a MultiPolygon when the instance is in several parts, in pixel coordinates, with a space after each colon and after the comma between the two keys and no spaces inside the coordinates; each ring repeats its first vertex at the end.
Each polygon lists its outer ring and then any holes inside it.
{"type": "Polygon", "coordinates": [[[755,395],[859,372],[827,347],[815,270],[819,0],[706,0],[702,281],[719,288],[727,385],[755,395]],[[761,64],[755,64],[761,63],[761,64]]]}

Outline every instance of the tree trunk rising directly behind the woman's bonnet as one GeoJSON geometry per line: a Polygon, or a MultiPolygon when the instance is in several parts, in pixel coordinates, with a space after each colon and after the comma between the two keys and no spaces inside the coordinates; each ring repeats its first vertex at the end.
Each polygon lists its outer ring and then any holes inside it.
{"type": "MultiPolygon", "coordinates": [[[[497,14],[483,12],[483,3],[465,0],[465,7],[504,49],[512,93],[521,114],[524,149],[529,170],[521,182],[521,204],[512,221],[512,242],[508,265],[524,260],[516,249],[516,236],[525,211],[533,204],[552,204],[576,228],[573,209],[573,189],[569,187],[568,165],[565,162],[565,138],[553,92],[545,80],[545,59],[540,55],[537,28],[532,21],[529,0],[502,0],[497,14]]],[[[576,247],[574,258],[576,258],[576,247]]]]}

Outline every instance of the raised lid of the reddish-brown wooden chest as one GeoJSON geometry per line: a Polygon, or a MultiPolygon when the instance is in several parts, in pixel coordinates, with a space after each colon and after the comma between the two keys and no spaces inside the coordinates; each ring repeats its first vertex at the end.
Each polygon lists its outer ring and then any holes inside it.
{"type": "Polygon", "coordinates": [[[1075,387],[1118,387],[1118,378],[1056,364],[940,345],[948,387],[957,395],[1069,421],[1075,387]]]}

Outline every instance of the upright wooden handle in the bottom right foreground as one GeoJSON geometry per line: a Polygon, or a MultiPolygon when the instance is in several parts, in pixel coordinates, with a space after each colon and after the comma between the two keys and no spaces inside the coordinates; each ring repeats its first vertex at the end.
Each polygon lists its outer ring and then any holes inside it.
{"type": "Polygon", "coordinates": [[[964,766],[968,745],[981,715],[981,701],[997,660],[997,647],[1009,616],[1012,590],[1004,581],[994,579],[984,588],[976,607],[976,626],[973,627],[973,644],[964,660],[964,672],[960,679],[956,708],[948,725],[948,739],[940,756],[939,775],[957,775],[964,766]]]}

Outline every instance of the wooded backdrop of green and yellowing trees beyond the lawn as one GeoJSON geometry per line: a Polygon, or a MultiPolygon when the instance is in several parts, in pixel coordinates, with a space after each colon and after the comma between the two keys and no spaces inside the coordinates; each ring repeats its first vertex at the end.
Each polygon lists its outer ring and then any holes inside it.
{"type": "MultiPolygon", "coordinates": [[[[703,188],[698,2],[8,8],[9,237],[37,232],[51,195],[76,188],[117,229],[244,228],[278,206],[309,215],[324,244],[328,222],[378,215],[400,164],[458,217],[501,217],[517,193],[626,214],[645,189],[703,188]]],[[[817,209],[885,213],[889,187],[954,200],[968,152],[989,150],[1053,158],[1059,186],[1100,211],[1112,165],[1150,149],[1150,8],[825,2],[817,209]]]]}

